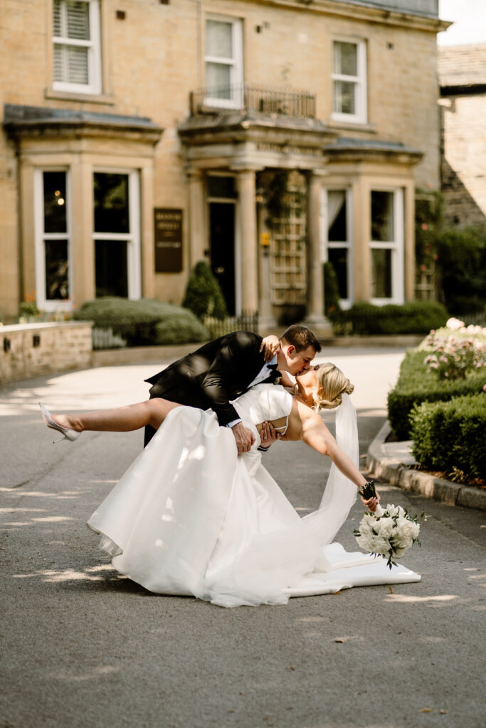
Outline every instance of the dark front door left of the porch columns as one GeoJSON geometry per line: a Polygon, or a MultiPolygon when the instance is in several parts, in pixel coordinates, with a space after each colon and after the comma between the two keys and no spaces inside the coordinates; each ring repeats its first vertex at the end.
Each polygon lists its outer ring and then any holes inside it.
{"type": "Polygon", "coordinates": [[[228,313],[235,315],[235,204],[209,203],[211,269],[221,286],[228,313]]]}

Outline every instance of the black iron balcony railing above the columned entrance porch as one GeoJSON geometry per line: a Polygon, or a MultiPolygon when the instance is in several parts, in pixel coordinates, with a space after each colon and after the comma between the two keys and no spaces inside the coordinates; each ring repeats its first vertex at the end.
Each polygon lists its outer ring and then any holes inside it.
{"type": "Polygon", "coordinates": [[[190,92],[191,116],[223,111],[257,111],[315,119],[315,95],[307,91],[264,89],[240,84],[190,92]]]}

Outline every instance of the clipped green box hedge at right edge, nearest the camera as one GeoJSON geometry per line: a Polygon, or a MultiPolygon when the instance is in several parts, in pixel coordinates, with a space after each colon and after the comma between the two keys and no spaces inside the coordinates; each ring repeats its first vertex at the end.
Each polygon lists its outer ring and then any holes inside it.
{"type": "Polygon", "coordinates": [[[410,415],[413,454],[428,469],[486,478],[486,394],[423,403],[410,415]]]}

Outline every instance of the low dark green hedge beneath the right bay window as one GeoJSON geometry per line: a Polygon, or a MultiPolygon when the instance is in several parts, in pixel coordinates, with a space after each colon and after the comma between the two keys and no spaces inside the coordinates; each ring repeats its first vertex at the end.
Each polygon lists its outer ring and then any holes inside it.
{"type": "Polygon", "coordinates": [[[413,301],[402,306],[359,303],[342,312],[343,323],[350,324],[352,333],[361,336],[428,333],[432,328],[443,326],[447,318],[444,306],[435,301],[413,301]]]}

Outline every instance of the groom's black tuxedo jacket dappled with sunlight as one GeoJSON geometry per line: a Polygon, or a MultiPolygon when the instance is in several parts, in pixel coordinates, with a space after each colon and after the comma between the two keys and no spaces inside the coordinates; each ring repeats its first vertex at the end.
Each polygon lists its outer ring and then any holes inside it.
{"type": "MultiPolygon", "coordinates": [[[[146,379],[150,397],[200,409],[213,409],[221,425],[238,419],[230,404],[246,392],[264,365],[259,352],[262,337],[250,331],[236,331],[209,341],[192,354],[177,360],[164,371],[146,379]]],[[[264,381],[273,381],[278,372],[264,381]]]]}

